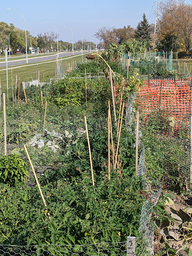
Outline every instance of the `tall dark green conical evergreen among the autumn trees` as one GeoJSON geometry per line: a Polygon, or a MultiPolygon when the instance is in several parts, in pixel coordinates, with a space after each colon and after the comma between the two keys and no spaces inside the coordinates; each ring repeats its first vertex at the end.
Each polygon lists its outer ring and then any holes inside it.
{"type": "Polygon", "coordinates": [[[147,47],[149,47],[150,41],[151,41],[150,26],[148,24],[146,15],[144,13],[142,15],[142,18],[143,18],[143,20],[141,20],[136,27],[136,30],[134,32],[134,37],[135,37],[135,39],[137,39],[139,41],[145,39],[147,41],[147,47]]]}

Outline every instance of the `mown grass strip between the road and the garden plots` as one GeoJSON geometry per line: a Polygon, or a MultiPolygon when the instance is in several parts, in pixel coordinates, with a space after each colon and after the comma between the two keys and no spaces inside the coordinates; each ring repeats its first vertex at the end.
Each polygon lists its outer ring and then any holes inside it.
{"type": "MultiPolygon", "coordinates": [[[[87,54],[87,53],[86,53],[87,54]]],[[[68,68],[68,64],[74,65],[75,67],[75,60],[76,62],[81,62],[82,61],[82,56],[73,56],[71,58],[63,58],[61,61],[61,67],[62,69],[68,68]]],[[[83,55],[83,60],[85,61],[85,54],[83,55]]],[[[16,66],[14,66],[16,67],[16,66]]],[[[31,81],[32,79],[36,79],[36,74],[38,76],[38,70],[39,70],[39,76],[40,76],[40,82],[44,81],[49,81],[50,78],[54,78],[55,74],[55,68],[56,68],[56,61],[50,61],[47,63],[37,63],[37,64],[24,64],[23,66],[20,66],[18,68],[13,68],[12,67],[12,79],[16,78],[17,75],[17,81],[18,77],[20,77],[20,82],[21,81],[31,81]],[[44,78],[43,78],[44,77],[44,78]]],[[[4,69],[4,67],[3,67],[4,69]]],[[[56,72],[57,75],[57,72],[56,72]]],[[[6,70],[0,70],[0,82],[1,82],[1,89],[2,92],[6,92],[6,70]]],[[[11,87],[12,80],[11,80],[11,68],[8,69],[8,87],[11,87]]]]}

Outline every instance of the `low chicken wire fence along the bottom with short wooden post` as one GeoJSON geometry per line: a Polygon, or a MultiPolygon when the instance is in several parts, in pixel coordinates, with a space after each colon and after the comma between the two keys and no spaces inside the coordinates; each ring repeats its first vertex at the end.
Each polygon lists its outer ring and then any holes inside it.
{"type": "Polygon", "coordinates": [[[127,236],[124,242],[100,242],[84,245],[0,245],[0,255],[78,255],[78,256],[145,256],[150,255],[145,250],[146,244],[143,237],[127,236]]]}

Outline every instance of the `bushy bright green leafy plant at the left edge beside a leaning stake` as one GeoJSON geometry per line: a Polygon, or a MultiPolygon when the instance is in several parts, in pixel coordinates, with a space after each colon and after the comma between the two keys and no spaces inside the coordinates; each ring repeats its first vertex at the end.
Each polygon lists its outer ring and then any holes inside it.
{"type": "Polygon", "coordinates": [[[0,182],[15,186],[17,182],[24,182],[24,176],[28,176],[26,163],[18,155],[0,157],[0,182]]]}

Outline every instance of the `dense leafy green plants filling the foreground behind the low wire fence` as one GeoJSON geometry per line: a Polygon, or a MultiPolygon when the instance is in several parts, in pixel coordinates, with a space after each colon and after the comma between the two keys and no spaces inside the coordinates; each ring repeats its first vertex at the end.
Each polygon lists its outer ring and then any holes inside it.
{"type": "Polygon", "coordinates": [[[36,187],[1,186],[0,244],[91,244],[137,235],[141,183],[125,176],[119,181],[112,172],[111,180],[104,177],[95,190],[84,177],[44,187],[51,221],[36,187]]]}

